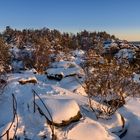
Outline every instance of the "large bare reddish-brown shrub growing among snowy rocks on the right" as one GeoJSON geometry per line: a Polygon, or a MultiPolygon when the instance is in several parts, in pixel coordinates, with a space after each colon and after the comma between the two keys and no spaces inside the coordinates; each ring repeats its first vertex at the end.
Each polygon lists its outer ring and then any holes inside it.
{"type": "Polygon", "coordinates": [[[127,60],[118,63],[112,59],[108,61],[94,51],[87,53],[84,65],[86,73],[85,87],[92,110],[92,99],[99,102],[98,115],[110,116],[125,104],[125,97],[136,94],[139,85],[133,82],[133,68],[127,60]]]}

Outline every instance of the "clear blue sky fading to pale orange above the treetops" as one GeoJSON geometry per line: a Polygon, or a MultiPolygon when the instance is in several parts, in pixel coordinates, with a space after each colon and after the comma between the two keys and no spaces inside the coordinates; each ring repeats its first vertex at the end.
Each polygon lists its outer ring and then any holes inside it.
{"type": "Polygon", "coordinates": [[[140,41],[140,0],[1,0],[0,31],[6,26],[106,31],[140,41]]]}

